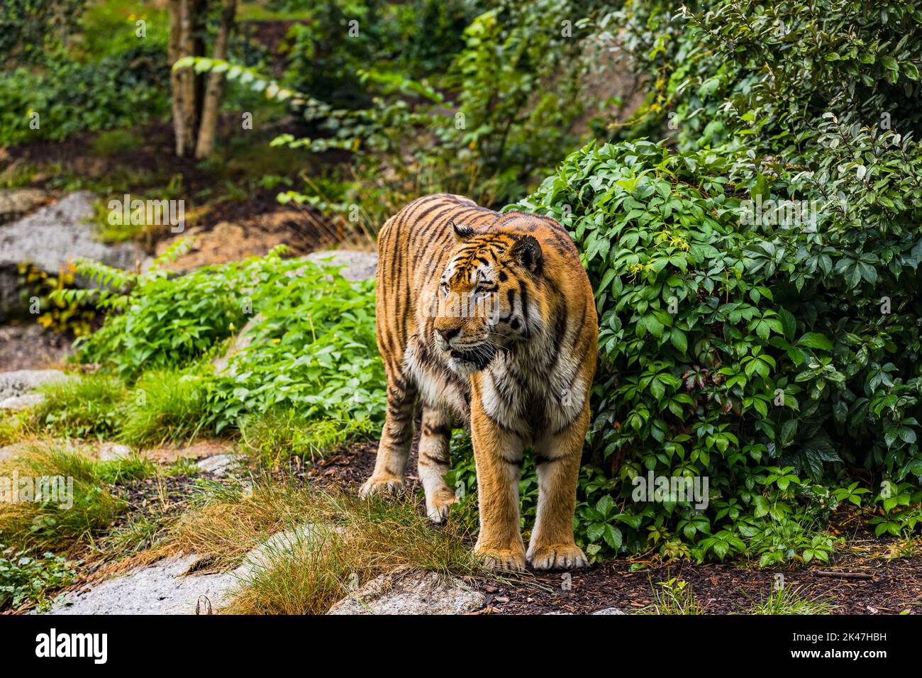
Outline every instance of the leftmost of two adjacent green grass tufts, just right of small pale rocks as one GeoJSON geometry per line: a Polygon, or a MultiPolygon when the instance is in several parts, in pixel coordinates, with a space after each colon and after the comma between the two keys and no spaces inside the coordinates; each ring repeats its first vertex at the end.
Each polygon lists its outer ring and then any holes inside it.
{"type": "Polygon", "coordinates": [[[71,377],[41,388],[44,399],[33,410],[34,423],[48,433],[75,438],[105,438],[117,433],[127,391],[107,375],[71,377]]]}

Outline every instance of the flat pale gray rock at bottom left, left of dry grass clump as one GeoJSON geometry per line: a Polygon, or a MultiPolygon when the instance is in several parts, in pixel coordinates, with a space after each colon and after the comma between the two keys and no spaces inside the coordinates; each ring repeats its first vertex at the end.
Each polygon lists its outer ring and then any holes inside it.
{"type": "Polygon", "coordinates": [[[103,581],[89,590],[65,593],[48,614],[195,614],[226,604],[239,584],[233,572],[188,575],[195,555],[175,555],[103,581]]]}

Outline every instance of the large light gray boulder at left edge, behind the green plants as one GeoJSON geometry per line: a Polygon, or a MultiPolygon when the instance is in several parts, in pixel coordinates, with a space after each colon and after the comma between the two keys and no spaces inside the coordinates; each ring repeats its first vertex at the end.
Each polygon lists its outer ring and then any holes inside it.
{"type": "Polygon", "coordinates": [[[78,191],[28,217],[0,227],[0,317],[21,310],[17,266],[30,261],[57,275],[74,259],[91,259],[116,268],[134,266],[134,244],[108,245],[93,240],[86,223],[93,216],[92,194],[78,191]]]}

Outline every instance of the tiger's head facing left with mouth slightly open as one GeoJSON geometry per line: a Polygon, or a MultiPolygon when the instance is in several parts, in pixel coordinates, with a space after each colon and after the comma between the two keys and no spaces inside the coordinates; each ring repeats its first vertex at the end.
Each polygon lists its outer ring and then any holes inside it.
{"type": "Polygon", "coordinates": [[[433,339],[449,369],[470,375],[543,327],[537,285],[544,257],[525,233],[451,227],[455,246],[431,305],[433,339]]]}

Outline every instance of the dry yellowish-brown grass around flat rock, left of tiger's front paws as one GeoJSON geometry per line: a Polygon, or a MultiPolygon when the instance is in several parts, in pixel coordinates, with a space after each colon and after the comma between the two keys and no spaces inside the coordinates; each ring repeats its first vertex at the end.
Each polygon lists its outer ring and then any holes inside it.
{"type": "Polygon", "coordinates": [[[312,529],[264,553],[224,612],[323,614],[350,588],[400,566],[480,572],[467,535],[432,527],[409,497],[363,502],[294,484],[260,482],[249,496],[219,494],[183,520],[175,543],[231,566],[272,534],[305,523],[312,529]]]}

